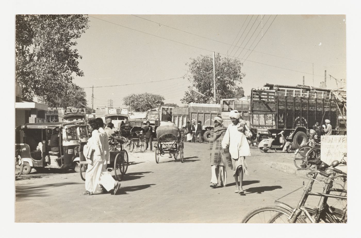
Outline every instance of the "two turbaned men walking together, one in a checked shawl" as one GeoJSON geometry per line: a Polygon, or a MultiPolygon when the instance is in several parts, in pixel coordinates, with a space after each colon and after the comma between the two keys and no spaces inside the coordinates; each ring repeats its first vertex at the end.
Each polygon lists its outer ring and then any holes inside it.
{"type": "Polygon", "coordinates": [[[234,192],[244,194],[243,174],[249,174],[245,157],[251,156],[246,133],[251,133],[251,131],[247,127],[246,121],[240,119],[240,113],[237,110],[232,110],[229,117],[232,124],[227,128],[222,125],[221,117],[214,118],[215,127],[211,130],[209,140],[212,171],[210,187],[226,186],[227,170],[232,170],[236,182],[234,192]],[[219,172],[221,172],[220,185],[218,185],[219,172]]]}

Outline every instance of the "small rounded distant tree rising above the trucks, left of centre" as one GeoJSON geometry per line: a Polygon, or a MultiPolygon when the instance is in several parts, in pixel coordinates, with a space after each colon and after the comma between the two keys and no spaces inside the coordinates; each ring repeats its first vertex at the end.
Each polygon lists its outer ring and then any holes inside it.
{"type": "Polygon", "coordinates": [[[164,97],[158,94],[130,94],[123,98],[124,105],[127,105],[135,112],[145,112],[149,109],[164,105],[164,97]]]}

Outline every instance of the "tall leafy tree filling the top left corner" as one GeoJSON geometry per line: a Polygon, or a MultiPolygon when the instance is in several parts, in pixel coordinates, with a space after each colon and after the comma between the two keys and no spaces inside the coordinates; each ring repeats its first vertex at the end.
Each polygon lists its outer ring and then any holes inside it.
{"type": "Polygon", "coordinates": [[[84,15],[16,15],[15,78],[24,99],[54,98],[83,76],[74,49],[88,29],[84,15]]]}

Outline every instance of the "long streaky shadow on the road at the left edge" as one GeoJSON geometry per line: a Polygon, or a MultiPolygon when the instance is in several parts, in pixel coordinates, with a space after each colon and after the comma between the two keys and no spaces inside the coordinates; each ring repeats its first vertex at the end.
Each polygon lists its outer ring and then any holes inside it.
{"type": "Polygon", "coordinates": [[[31,197],[31,196],[48,196],[46,190],[51,187],[61,187],[65,185],[82,184],[81,182],[68,182],[68,183],[52,183],[41,186],[18,185],[15,187],[16,199],[31,197]]]}

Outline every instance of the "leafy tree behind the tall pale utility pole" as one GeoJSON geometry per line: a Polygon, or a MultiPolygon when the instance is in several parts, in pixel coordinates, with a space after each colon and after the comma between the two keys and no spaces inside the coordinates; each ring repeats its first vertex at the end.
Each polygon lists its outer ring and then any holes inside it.
{"type": "MultiPolygon", "coordinates": [[[[241,72],[243,64],[239,59],[222,58],[219,53],[214,58],[216,67],[216,101],[219,103],[221,98],[234,98],[238,90],[238,84],[242,83],[242,78],[245,77],[245,74],[241,72]]],[[[181,99],[182,103],[212,103],[213,57],[200,55],[190,60],[190,63],[186,63],[190,74],[185,75],[185,77],[188,77],[192,85],[188,87],[189,91],[184,93],[184,97],[181,99]],[[192,89],[209,98],[196,94],[192,89]]]]}

